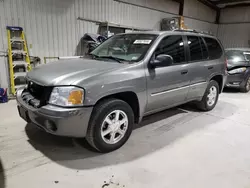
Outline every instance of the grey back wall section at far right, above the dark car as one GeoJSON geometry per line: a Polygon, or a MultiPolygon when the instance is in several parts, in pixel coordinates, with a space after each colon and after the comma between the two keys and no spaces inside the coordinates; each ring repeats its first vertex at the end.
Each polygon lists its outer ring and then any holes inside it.
{"type": "Polygon", "coordinates": [[[225,48],[250,47],[250,7],[221,11],[218,38],[225,48]]]}

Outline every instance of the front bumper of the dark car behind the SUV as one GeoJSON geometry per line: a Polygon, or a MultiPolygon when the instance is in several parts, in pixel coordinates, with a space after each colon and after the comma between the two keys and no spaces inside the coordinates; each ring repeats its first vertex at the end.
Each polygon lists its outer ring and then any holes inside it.
{"type": "Polygon", "coordinates": [[[245,85],[245,83],[246,83],[245,74],[228,75],[226,87],[241,88],[245,85]]]}

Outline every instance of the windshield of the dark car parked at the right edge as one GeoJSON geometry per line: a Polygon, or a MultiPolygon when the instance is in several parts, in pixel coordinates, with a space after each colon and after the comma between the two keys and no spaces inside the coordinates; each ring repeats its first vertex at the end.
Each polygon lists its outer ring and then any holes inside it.
{"type": "Polygon", "coordinates": [[[249,54],[249,52],[244,52],[240,50],[226,51],[227,60],[233,61],[234,63],[248,61],[249,54]]]}

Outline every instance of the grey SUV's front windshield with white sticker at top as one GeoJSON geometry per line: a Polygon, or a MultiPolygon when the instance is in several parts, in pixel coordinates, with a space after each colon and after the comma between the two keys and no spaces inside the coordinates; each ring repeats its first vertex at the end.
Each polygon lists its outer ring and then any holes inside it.
{"type": "Polygon", "coordinates": [[[115,35],[91,52],[96,58],[116,61],[138,62],[142,60],[157,35],[123,34],[115,35]]]}

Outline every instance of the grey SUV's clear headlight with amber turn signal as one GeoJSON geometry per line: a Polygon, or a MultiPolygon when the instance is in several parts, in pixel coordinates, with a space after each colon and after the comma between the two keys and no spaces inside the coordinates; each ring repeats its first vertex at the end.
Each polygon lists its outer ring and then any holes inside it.
{"type": "Polygon", "coordinates": [[[84,90],[74,86],[54,87],[49,103],[58,106],[81,106],[84,99],[84,90]]]}

